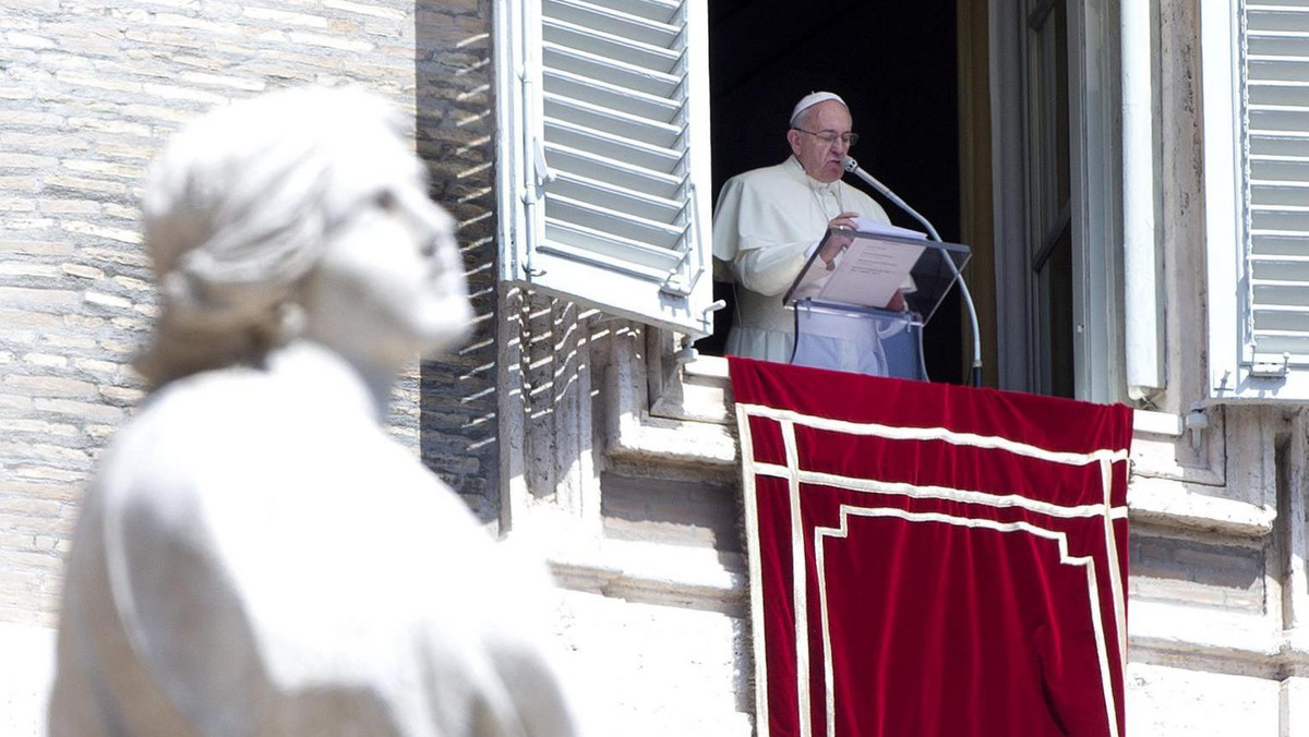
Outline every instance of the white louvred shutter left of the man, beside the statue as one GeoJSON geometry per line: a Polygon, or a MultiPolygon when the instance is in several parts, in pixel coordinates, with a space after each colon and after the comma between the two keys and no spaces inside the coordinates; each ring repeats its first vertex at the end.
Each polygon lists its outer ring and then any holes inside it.
{"type": "Polygon", "coordinates": [[[501,279],[709,333],[704,0],[497,9],[501,279]]]}

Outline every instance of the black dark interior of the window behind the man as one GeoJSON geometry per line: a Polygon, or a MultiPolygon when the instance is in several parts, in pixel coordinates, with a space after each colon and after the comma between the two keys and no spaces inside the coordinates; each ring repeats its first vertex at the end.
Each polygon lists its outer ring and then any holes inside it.
{"type": "MultiPolygon", "coordinates": [[[[859,144],[851,156],[922,212],[946,241],[961,241],[959,67],[957,0],[868,3],[781,0],[709,3],[713,191],[741,171],[778,164],[791,107],[830,90],[850,105],[859,144]]],[[[868,191],[861,182],[847,181],[868,191]]],[[[873,195],[891,221],[922,229],[873,195]]],[[[696,347],[721,355],[732,322],[732,288],[715,333],[696,347]]],[[[932,380],[965,376],[958,289],[928,323],[924,352],[932,380]]]]}

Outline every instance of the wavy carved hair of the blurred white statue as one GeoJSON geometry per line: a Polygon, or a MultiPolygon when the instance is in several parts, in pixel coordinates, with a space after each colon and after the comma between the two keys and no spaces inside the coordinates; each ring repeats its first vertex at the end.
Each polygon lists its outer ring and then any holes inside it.
{"type": "Polygon", "coordinates": [[[403,136],[381,98],[298,88],[211,111],[170,140],[141,202],[161,309],[135,364],[154,387],[258,365],[300,335],[300,287],[359,206],[335,162],[377,136],[403,136]]]}

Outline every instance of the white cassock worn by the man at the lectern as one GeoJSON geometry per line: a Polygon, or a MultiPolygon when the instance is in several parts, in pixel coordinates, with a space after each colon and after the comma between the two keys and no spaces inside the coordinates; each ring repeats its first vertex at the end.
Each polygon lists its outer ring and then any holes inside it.
{"type": "MultiPolygon", "coordinates": [[[[809,177],[793,156],[776,166],[728,179],[713,211],[715,266],[726,266],[742,287],[736,291],[737,310],[728,334],[728,353],[791,361],[796,318],[795,310],[783,306],[781,297],[800,275],[810,246],[842,212],[890,221],[872,198],[840,179],[823,183],[809,177]]],[[[806,331],[814,330],[830,333],[814,335],[819,351],[829,353],[819,364],[886,373],[876,322],[806,323],[806,331]]]]}

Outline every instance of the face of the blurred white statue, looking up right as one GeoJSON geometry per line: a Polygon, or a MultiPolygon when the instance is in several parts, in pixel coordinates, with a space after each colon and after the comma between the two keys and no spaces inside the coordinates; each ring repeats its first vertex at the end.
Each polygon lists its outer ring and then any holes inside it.
{"type": "Polygon", "coordinates": [[[418,158],[394,137],[382,143],[351,152],[336,177],[353,200],[329,230],[304,304],[310,338],[401,365],[457,344],[473,312],[454,219],[428,199],[418,158]]]}

